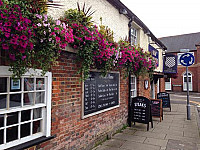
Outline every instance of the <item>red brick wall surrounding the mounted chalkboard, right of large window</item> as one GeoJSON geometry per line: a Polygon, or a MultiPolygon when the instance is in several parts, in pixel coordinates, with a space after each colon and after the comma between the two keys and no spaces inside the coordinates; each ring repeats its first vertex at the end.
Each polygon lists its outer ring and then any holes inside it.
{"type": "Polygon", "coordinates": [[[120,74],[120,107],[81,119],[82,98],[76,74],[75,54],[63,52],[53,66],[52,129],[56,137],[37,145],[44,149],[89,149],[95,141],[105,138],[126,124],[128,113],[128,80],[120,74]]]}

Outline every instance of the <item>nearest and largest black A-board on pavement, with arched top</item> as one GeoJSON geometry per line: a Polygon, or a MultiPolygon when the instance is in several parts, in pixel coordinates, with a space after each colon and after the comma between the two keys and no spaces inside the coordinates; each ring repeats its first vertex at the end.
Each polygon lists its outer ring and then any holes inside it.
{"type": "Polygon", "coordinates": [[[149,122],[153,128],[150,100],[143,96],[138,96],[132,99],[132,121],[147,124],[149,130],[149,122]]]}

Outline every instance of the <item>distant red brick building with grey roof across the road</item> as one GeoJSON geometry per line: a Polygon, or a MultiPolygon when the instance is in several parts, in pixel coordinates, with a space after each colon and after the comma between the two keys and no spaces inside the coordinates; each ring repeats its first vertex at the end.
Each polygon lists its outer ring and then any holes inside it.
{"type": "Polygon", "coordinates": [[[180,64],[179,59],[183,54],[180,52],[180,49],[190,49],[189,53],[194,55],[195,62],[188,67],[189,90],[200,92],[200,32],[163,37],[160,40],[167,46],[167,53],[178,56],[178,74],[176,78],[165,78],[165,90],[174,92],[187,90],[186,67],[180,64]]]}

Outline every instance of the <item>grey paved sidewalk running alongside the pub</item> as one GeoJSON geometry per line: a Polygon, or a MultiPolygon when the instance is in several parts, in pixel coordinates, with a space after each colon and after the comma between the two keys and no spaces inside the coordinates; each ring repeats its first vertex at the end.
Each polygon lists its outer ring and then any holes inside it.
{"type": "Polygon", "coordinates": [[[200,150],[198,112],[191,106],[191,120],[187,120],[186,105],[171,104],[164,109],[164,120],[153,118],[154,128],[136,123],[93,150],[200,150]]]}

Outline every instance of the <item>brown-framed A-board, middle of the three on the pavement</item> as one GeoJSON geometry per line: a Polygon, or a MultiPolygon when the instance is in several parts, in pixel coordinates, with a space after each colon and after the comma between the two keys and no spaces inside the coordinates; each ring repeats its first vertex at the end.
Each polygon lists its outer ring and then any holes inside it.
{"type": "Polygon", "coordinates": [[[151,112],[153,117],[159,117],[160,122],[163,120],[163,109],[161,99],[150,99],[151,100],[151,112]]]}

